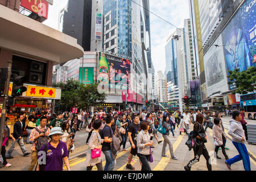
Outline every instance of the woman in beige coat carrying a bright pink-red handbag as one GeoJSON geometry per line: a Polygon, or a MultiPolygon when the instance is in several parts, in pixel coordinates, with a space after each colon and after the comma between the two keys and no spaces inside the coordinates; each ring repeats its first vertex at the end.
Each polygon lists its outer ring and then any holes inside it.
{"type": "Polygon", "coordinates": [[[101,127],[100,119],[97,119],[93,123],[94,130],[89,139],[89,152],[86,154],[86,171],[92,171],[93,166],[96,165],[98,171],[103,171],[102,162],[101,162],[101,143],[104,142],[104,139],[101,139],[98,131],[101,127]]]}

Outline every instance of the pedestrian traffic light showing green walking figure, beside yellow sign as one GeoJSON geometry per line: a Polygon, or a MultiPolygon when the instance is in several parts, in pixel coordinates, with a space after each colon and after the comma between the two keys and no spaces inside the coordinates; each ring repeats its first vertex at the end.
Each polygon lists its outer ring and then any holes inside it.
{"type": "Polygon", "coordinates": [[[11,78],[13,78],[13,92],[11,93],[11,96],[22,96],[22,93],[27,91],[26,86],[23,86],[26,78],[24,76],[18,76],[15,73],[11,74],[11,78]]]}

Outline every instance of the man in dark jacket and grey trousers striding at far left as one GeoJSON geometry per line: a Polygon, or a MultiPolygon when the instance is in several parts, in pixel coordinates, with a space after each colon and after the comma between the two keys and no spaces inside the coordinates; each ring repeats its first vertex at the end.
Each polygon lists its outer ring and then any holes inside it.
{"type": "Polygon", "coordinates": [[[11,156],[11,153],[13,152],[15,148],[15,143],[18,142],[20,149],[22,150],[23,156],[30,155],[30,152],[28,152],[24,146],[23,142],[23,115],[19,115],[18,121],[14,124],[13,126],[13,137],[15,138],[15,141],[11,143],[11,147],[9,148],[7,154],[6,154],[6,159],[13,159],[13,156],[11,156]]]}

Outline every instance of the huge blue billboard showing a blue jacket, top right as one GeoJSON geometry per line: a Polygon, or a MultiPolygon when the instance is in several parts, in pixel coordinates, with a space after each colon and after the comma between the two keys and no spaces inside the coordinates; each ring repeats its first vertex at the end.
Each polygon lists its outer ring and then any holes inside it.
{"type": "MultiPolygon", "coordinates": [[[[222,32],[226,72],[247,70],[256,63],[256,3],[247,0],[222,32]]],[[[236,89],[236,85],[229,85],[236,89]]]]}

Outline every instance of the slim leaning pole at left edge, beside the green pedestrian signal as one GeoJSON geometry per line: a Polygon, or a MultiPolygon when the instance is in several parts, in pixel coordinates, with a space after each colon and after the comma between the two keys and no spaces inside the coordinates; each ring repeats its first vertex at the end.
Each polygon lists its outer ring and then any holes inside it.
{"type": "MultiPolygon", "coordinates": [[[[2,142],[3,142],[3,128],[5,127],[5,118],[6,118],[6,101],[8,99],[8,93],[9,93],[12,64],[13,64],[13,61],[7,61],[7,78],[5,82],[5,94],[3,96],[3,109],[2,109],[2,116],[1,116],[1,122],[0,122],[0,146],[2,146],[2,142]]],[[[2,151],[2,147],[0,147],[0,154],[1,154],[1,151],[2,151]]]]}

